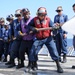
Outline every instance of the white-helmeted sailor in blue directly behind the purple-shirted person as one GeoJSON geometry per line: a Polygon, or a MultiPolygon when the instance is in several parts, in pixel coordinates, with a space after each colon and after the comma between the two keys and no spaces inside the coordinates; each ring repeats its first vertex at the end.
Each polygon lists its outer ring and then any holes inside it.
{"type": "Polygon", "coordinates": [[[18,26],[20,25],[20,21],[22,19],[20,9],[15,11],[15,17],[17,19],[13,21],[14,36],[13,36],[13,43],[12,43],[11,50],[10,50],[11,64],[8,66],[8,68],[12,68],[15,66],[15,62],[14,62],[15,58],[19,59],[19,47],[20,47],[21,40],[22,40],[21,36],[18,35],[18,31],[19,31],[18,26]]]}

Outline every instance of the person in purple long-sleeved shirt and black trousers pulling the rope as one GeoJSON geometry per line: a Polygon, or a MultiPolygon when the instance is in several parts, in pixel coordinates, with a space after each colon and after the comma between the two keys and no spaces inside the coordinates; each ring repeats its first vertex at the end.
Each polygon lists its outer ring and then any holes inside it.
{"type": "MultiPolygon", "coordinates": [[[[28,8],[22,9],[22,15],[23,15],[23,19],[21,20],[21,31],[19,31],[20,36],[22,36],[22,42],[19,49],[19,59],[21,60],[21,62],[19,62],[17,69],[24,67],[25,53],[28,55],[28,59],[29,59],[29,53],[34,42],[33,41],[34,34],[24,35],[28,33],[27,26],[32,20],[29,9],[28,8]]],[[[28,66],[29,64],[30,61],[28,62],[28,66]]]]}

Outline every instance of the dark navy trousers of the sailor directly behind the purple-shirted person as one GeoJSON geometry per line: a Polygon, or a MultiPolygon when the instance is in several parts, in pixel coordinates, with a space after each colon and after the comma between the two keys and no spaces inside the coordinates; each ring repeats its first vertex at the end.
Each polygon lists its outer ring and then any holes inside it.
{"type": "Polygon", "coordinates": [[[14,40],[10,50],[10,58],[15,59],[19,58],[19,48],[21,45],[21,40],[14,40]]]}

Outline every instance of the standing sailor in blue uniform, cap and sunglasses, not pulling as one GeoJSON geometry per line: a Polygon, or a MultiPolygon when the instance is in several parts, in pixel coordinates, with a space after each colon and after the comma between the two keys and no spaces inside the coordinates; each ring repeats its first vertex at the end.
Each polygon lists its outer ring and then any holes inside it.
{"type": "Polygon", "coordinates": [[[63,53],[62,63],[65,63],[67,61],[66,59],[67,32],[64,31],[61,26],[68,20],[68,16],[63,14],[62,11],[63,11],[62,6],[57,7],[56,12],[58,14],[55,15],[54,17],[54,23],[56,23],[56,25],[59,25],[60,28],[54,32],[54,35],[55,35],[55,42],[60,57],[60,61],[61,61],[61,53],[63,53]]]}

